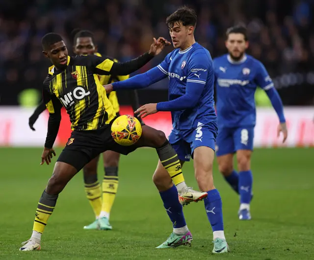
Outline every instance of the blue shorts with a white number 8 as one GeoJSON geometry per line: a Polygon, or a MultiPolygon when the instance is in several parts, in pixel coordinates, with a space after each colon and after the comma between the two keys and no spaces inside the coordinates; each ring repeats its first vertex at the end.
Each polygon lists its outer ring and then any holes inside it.
{"type": "Polygon", "coordinates": [[[254,126],[219,128],[216,141],[216,155],[235,153],[237,150],[253,151],[254,126]]]}

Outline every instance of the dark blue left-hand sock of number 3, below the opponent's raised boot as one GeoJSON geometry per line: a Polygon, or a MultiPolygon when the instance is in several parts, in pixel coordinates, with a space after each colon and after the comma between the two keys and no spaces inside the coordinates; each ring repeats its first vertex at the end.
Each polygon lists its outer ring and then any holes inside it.
{"type": "Polygon", "coordinates": [[[176,186],[174,185],[166,191],[161,191],[159,194],[163,201],[163,206],[172,221],[173,227],[184,227],[186,223],[183,215],[183,207],[179,202],[178,190],[176,186]]]}

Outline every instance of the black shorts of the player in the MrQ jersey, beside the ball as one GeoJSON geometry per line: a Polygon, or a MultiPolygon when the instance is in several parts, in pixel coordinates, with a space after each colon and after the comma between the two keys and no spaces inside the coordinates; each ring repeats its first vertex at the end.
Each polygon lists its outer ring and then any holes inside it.
{"type": "Polygon", "coordinates": [[[135,145],[123,146],[115,142],[111,136],[111,124],[101,129],[73,131],[57,162],[74,166],[78,171],[97,155],[107,151],[115,151],[124,155],[133,152],[135,145]]]}

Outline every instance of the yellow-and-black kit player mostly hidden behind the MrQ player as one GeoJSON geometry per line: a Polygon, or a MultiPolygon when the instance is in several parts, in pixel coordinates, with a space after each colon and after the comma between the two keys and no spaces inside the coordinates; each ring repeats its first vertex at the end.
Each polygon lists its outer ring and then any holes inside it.
{"type": "MultiPolygon", "coordinates": [[[[73,37],[73,52],[77,55],[96,55],[102,57],[97,52],[98,47],[95,44],[94,35],[91,31],[75,29],[71,33],[73,37]]],[[[114,62],[118,60],[109,58],[114,62]]],[[[100,83],[106,85],[115,81],[122,81],[129,78],[129,75],[98,75],[100,83]]],[[[131,105],[133,111],[139,107],[137,92],[132,91],[131,105]]],[[[110,103],[112,104],[114,112],[119,116],[119,102],[116,92],[111,92],[107,95],[110,103]]],[[[46,110],[46,105],[41,102],[34,111],[33,115],[29,118],[30,128],[33,128],[33,124],[37,120],[38,116],[46,110]]],[[[138,118],[140,121],[141,118],[138,118]]],[[[91,160],[87,165],[83,167],[84,187],[87,199],[95,213],[96,219],[84,229],[102,229],[111,230],[112,227],[109,223],[110,211],[115,199],[115,195],[118,189],[118,164],[120,154],[114,151],[105,151],[103,153],[105,176],[101,184],[98,181],[97,167],[99,162],[99,156],[91,160]],[[99,216],[103,217],[103,221],[98,221],[99,216]]]]}

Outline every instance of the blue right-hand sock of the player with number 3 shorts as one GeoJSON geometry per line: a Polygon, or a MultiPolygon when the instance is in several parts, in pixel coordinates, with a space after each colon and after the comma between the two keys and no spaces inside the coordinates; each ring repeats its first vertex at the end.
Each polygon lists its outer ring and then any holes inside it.
{"type": "Polygon", "coordinates": [[[204,199],[207,218],[210,222],[212,231],[224,230],[222,218],[222,202],[219,191],[212,189],[207,191],[207,198],[204,199]]]}

